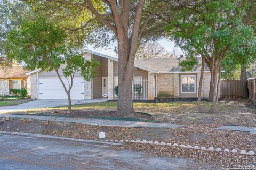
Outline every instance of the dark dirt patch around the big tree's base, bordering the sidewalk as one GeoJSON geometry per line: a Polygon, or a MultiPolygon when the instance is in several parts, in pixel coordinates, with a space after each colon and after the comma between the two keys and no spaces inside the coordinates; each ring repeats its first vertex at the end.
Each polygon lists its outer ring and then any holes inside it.
{"type": "MultiPolygon", "coordinates": [[[[71,117],[114,117],[117,118],[116,111],[108,111],[108,110],[75,110],[68,113],[67,111],[52,111],[52,112],[45,112],[42,115],[65,115],[71,117]]],[[[145,120],[154,120],[151,115],[146,113],[135,113],[137,118],[145,119],[145,120]]]]}

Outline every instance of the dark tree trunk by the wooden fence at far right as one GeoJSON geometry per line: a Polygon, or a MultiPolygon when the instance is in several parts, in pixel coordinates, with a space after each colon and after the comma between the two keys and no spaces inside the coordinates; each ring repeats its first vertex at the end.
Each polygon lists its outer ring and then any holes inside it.
{"type": "Polygon", "coordinates": [[[240,83],[241,83],[242,98],[247,99],[249,97],[249,92],[248,92],[248,88],[247,88],[247,72],[246,72],[245,65],[241,65],[240,83]]]}

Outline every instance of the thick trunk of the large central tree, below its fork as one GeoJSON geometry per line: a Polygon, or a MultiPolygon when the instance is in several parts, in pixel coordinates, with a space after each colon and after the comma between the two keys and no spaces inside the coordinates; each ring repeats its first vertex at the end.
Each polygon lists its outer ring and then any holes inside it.
{"type": "MultiPolygon", "coordinates": [[[[129,40],[126,37],[118,38],[118,101],[117,115],[124,118],[135,118],[133,108],[133,67],[135,53],[132,56],[130,53],[129,40]]],[[[136,52],[136,51],[135,51],[136,52]]]]}

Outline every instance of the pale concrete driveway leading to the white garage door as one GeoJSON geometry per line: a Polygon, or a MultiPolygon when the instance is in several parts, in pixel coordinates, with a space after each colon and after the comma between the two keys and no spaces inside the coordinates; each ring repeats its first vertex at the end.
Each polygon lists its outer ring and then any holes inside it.
{"type": "MultiPolygon", "coordinates": [[[[72,105],[76,104],[85,104],[85,103],[94,103],[94,102],[103,102],[104,99],[93,99],[93,100],[72,100],[72,105]]],[[[25,111],[27,109],[35,108],[46,108],[46,107],[55,107],[55,106],[66,106],[68,105],[68,100],[35,100],[29,101],[27,103],[22,103],[15,106],[3,106],[0,107],[0,113],[8,113],[14,111],[25,111]]]]}

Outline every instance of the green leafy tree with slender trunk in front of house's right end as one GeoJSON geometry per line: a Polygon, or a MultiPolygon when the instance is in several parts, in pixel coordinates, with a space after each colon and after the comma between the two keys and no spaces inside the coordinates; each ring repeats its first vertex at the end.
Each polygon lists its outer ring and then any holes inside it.
{"type": "MultiPolygon", "coordinates": [[[[247,5],[239,0],[181,2],[180,10],[166,27],[172,32],[171,39],[187,52],[187,60],[181,65],[191,67],[189,60],[204,58],[211,71],[209,97],[213,100],[210,112],[215,111],[218,99],[218,70],[221,62],[231,52],[251,54],[254,48],[253,29],[244,24],[247,5]],[[213,91],[213,94],[211,92],[213,91]]],[[[242,60],[241,55],[234,55],[242,60]]],[[[181,62],[182,63],[182,62],[181,62]]],[[[195,62],[193,62],[195,63],[195,62]]]]}

